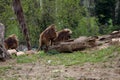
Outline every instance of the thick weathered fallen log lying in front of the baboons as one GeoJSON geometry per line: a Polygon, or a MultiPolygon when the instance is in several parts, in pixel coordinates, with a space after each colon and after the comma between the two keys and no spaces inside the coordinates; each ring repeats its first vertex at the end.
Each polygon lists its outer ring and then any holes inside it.
{"type": "Polygon", "coordinates": [[[58,52],[73,52],[80,51],[86,48],[96,46],[96,39],[92,37],[79,37],[75,40],[69,40],[68,42],[60,42],[57,45],[50,46],[48,50],[57,50],[58,52]]]}

